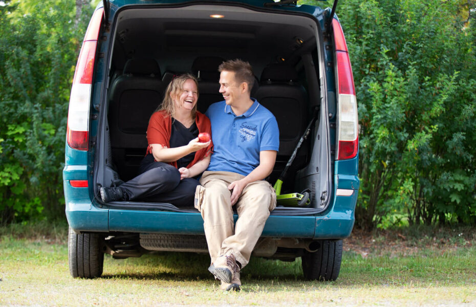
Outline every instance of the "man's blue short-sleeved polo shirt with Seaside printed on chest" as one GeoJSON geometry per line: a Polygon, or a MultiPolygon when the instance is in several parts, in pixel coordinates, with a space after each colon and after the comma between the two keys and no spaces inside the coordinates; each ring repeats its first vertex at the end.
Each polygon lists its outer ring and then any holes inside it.
{"type": "Polygon", "coordinates": [[[247,176],[259,165],[259,151],[279,149],[276,118],[256,99],[241,116],[236,116],[225,101],[210,105],[205,115],[211,122],[213,140],[209,171],[247,176]]]}

